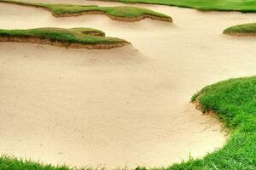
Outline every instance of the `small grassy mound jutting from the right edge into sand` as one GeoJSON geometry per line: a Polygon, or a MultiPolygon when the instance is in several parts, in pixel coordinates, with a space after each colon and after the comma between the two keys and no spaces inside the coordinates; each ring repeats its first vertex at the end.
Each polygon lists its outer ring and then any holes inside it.
{"type": "Polygon", "coordinates": [[[232,26],[225,29],[224,34],[237,36],[256,36],[256,23],[232,26]]]}

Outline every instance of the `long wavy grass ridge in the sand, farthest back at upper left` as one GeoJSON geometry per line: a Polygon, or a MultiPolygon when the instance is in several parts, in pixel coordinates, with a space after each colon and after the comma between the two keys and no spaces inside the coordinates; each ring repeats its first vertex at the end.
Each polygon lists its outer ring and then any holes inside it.
{"type": "Polygon", "coordinates": [[[99,7],[97,5],[72,5],[72,4],[50,4],[50,3],[28,3],[14,0],[0,0],[0,3],[15,3],[18,5],[32,6],[49,10],[54,16],[72,16],[80,14],[106,14],[112,20],[137,21],[144,18],[154,20],[172,21],[166,14],[160,14],[147,8],[137,7],[99,7]]]}

